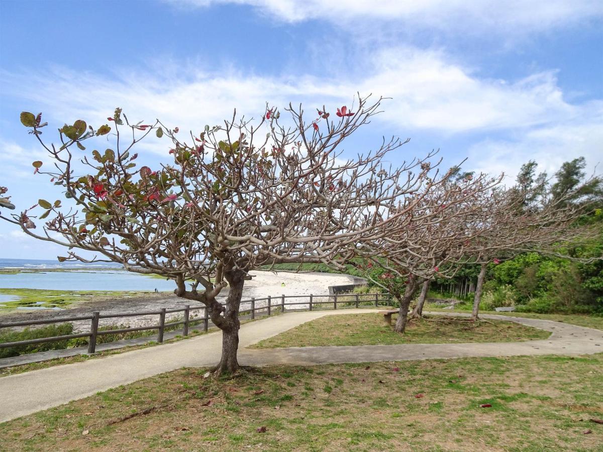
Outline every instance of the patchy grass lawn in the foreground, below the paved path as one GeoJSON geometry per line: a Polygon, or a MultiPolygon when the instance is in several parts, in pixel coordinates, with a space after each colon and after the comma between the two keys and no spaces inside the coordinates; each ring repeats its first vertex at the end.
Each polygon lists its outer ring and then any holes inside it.
{"type": "Polygon", "coordinates": [[[180,369],[0,424],[1,448],[601,450],[590,419],[603,418],[602,368],[603,354],[274,366],[223,380],[180,369]]]}

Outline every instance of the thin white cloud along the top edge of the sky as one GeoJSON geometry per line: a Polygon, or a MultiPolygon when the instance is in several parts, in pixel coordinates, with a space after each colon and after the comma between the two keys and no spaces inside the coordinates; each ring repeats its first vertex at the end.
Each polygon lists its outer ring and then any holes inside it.
{"type": "MultiPolygon", "coordinates": [[[[603,16],[598,0],[166,0],[180,7],[238,4],[286,22],[326,19],[335,23],[368,19],[399,21],[400,28],[463,28],[513,33],[549,30],[603,16]]],[[[353,30],[351,30],[353,32],[353,30]]]]}

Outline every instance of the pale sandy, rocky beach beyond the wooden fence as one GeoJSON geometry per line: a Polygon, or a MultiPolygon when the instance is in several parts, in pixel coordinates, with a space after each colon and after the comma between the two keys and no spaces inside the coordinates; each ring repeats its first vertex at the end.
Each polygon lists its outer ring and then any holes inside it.
{"type": "MultiPolygon", "coordinates": [[[[350,284],[353,281],[353,277],[349,275],[338,275],[329,273],[289,273],[289,272],[266,272],[266,271],[253,271],[250,272],[253,276],[251,281],[245,282],[245,288],[243,290],[243,299],[250,300],[254,298],[265,298],[268,295],[270,297],[278,298],[274,300],[272,304],[280,303],[281,295],[292,296],[292,295],[328,295],[329,286],[336,286],[341,284],[350,284]]],[[[227,290],[223,290],[220,294],[219,300],[224,300],[228,294],[227,290]]],[[[294,300],[288,300],[294,301],[294,300]]],[[[300,298],[301,302],[308,302],[308,298],[300,298]]],[[[192,303],[188,300],[182,300],[172,293],[160,292],[160,293],[149,293],[144,296],[128,297],[128,298],[114,298],[102,301],[84,301],[77,303],[74,307],[66,310],[27,310],[23,312],[8,313],[2,315],[2,322],[16,322],[25,320],[37,320],[37,319],[48,319],[48,318],[60,318],[66,316],[75,315],[89,315],[92,311],[100,311],[101,314],[119,314],[126,312],[144,312],[144,311],[157,311],[163,307],[166,309],[180,309],[190,304],[191,306],[198,306],[197,303],[192,303]]],[[[265,306],[265,301],[258,301],[257,307],[265,306]]],[[[247,309],[249,303],[242,303],[241,309],[247,309]]],[[[303,306],[298,306],[302,308],[303,306]]],[[[182,313],[174,313],[167,315],[166,319],[171,319],[182,315],[182,313]]],[[[201,315],[203,316],[203,310],[198,310],[191,314],[192,316],[201,315]]],[[[116,318],[116,319],[101,319],[99,325],[129,325],[130,327],[139,327],[146,325],[153,325],[159,322],[158,315],[150,316],[135,316],[127,318],[116,318]]],[[[89,331],[90,321],[75,321],[74,329],[77,331],[89,331]]]]}

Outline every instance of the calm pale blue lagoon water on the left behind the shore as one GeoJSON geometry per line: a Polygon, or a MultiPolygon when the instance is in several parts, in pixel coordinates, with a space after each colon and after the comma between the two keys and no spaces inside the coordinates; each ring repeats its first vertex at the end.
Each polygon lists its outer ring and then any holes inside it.
{"type": "MultiPolygon", "coordinates": [[[[58,271],[0,274],[1,289],[46,289],[46,290],[136,290],[160,292],[175,289],[174,281],[166,281],[123,270],[110,271],[58,271]]],[[[9,301],[0,295],[0,301],[9,301]]]]}

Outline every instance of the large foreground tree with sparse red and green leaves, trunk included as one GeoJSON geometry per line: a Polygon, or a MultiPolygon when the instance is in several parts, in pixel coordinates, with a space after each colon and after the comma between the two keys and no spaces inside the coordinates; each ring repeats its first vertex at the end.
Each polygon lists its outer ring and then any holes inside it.
{"type": "Polygon", "coordinates": [[[40,199],[37,206],[45,212],[37,217],[28,209],[0,218],[69,248],[59,260],[119,262],[128,271],[174,279],[175,294],[203,303],[223,331],[215,373],[234,372],[239,306],[251,269],[277,263],[343,269],[359,243],[387,235],[385,225],[397,218],[413,224],[411,212],[437,187],[426,160],[432,154],[400,168],[383,164],[405,143],[397,138],[356,159],[342,158],[341,143],[379,106],[380,99],[359,98],[355,111],[342,107],[330,115],[323,107],[311,122],[301,107],[286,108],[288,122],[267,107],[260,120],[237,119],[235,112],[221,126],[186,136],[159,121],[132,124],[118,108],[108,118],[113,127],[94,130],[76,121],[59,130],[56,146],[40,137],[41,115],[24,112],[21,121],[54,165],[43,171],[42,162],[34,162],[35,172],[62,186],[71,206],[40,199]],[[172,161],[137,168],[134,150],[151,131],[171,140],[172,161]],[[85,150],[87,140],[105,135],[113,149],[85,150]],[[42,219],[37,233],[34,220],[42,219]],[[97,256],[87,259],[74,250],[97,256]],[[227,286],[221,304],[216,297],[227,286]]]}

